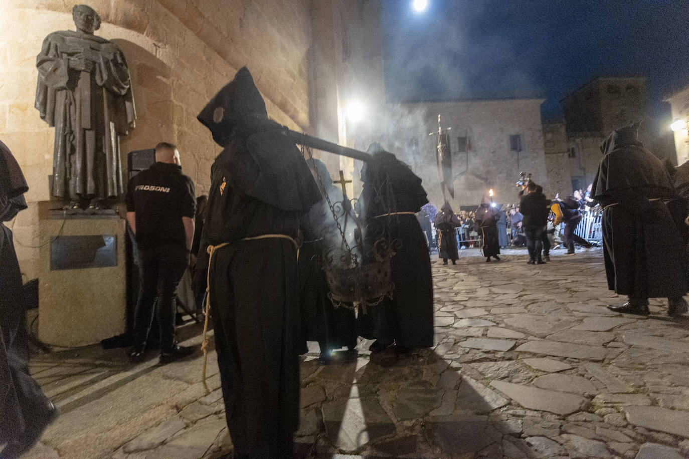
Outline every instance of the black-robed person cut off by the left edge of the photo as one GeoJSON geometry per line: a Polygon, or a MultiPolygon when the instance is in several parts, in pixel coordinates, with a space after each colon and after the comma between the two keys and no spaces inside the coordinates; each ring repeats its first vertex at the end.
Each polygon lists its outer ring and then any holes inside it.
{"type": "Polygon", "coordinates": [[[21,339],[26,304],[12,231],[3,222],[26,209],[29,187],[10,149],[0,142],[0,457],[28,451],[56,416],[54,405],[29,374],[28,343],[21,339]]]}

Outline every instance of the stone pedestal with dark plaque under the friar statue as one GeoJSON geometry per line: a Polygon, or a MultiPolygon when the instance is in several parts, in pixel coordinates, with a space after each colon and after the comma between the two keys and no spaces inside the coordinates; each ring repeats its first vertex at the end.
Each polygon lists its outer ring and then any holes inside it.
{"type": "Polygon", "coordinates": [[[99,343],[125,332],[125,212],[71,215],[39,202],[39,339],[99,343]]]}

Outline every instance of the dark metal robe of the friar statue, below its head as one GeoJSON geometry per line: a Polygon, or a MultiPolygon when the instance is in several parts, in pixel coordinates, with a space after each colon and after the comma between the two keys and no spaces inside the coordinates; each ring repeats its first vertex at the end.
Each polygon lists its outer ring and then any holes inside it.
{"type": "Polygon", "coordinates": [[[119,136],[136,119],[124,54],[100,36],[63,30],[45,37],[36,66],[35,107],[55,128],[52,195],[122,195],[119,136]],[[92,72],[70,66],[79,56],[94,63],[92,72]]]}

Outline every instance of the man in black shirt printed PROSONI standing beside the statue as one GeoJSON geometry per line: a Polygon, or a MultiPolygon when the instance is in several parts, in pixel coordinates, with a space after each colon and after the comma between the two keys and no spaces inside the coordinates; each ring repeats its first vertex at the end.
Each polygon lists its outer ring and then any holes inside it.
{"type": "Polygon", "coordinates": [[[136,236],[141,261],[141,291],[134,317],[134,345],[130,361],[143,361],[153,313],[158,305],[161,363],[194,352],[174,337],[176,291],[189,265],[194,238],[196,195],[194,182],[183,175],[174,145],[156,145],[156,162],[130,180],[127,221],[136,236]]]}

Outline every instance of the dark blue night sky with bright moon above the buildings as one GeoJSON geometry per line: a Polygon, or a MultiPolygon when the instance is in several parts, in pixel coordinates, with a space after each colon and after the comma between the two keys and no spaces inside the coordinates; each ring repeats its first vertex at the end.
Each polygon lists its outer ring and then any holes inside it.
{"type": "Polygon", "coordinates": [[[544,118],[594,76],[646,76],[654,124],[689,84],[688,0],[382,1],[391,101],[543,96],[544,118]]]}

